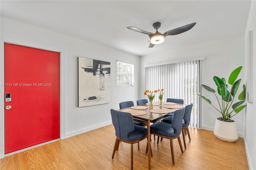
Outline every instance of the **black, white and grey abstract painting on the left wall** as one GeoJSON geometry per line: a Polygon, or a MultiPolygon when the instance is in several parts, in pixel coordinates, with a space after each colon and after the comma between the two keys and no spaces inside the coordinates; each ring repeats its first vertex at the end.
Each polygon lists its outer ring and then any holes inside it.
{"type": "Polygon", "coordinates": [[[78,57],[78,107],[110,103],[110,62],[78,57]]]}

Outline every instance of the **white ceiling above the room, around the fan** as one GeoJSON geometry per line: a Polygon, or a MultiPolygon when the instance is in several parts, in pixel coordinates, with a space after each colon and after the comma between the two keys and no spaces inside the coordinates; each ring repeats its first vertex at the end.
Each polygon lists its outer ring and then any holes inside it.
{"type": "Polygon", "coordinates": [[[105,45],[135,55],[244,35],[250,1],[12,1],[1,0],[1,16],[105,45]],[[149,37],[127,29],[134,26],[162,34],[193,22],[189,31],[167,36],[165,42],[148,48],[149,37]]]}

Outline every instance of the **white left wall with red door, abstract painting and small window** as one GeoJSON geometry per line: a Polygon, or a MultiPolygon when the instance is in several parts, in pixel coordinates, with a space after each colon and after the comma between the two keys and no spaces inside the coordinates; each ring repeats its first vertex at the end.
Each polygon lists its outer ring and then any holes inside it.
{"type": "MultiPolygon", "coordinates": [[[[66,138],[112,123],[110,109],[119,109],[121,101],[138,99],[139,74],[134,87],[116,86],[116,60],[134,64],[139,73],[140,59],[117,51],[1,17],[0,83],[4,83],[4,42],[18,43],[61,52],[61,138],[66,138]],[[86,57],[111,63],[111,102],[78,108],[78,58],[86,57]]],[[[0,158],[4,156],[4,87],[0,87],[0,158]]]]}

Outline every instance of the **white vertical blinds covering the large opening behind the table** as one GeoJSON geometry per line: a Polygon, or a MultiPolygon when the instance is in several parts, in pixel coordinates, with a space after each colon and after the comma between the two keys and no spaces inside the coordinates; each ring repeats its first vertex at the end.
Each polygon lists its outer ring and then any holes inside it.
{"type": "MultiPolygon", "coordinates": [[[[199,60],[146,67],[145,75],[145,90],[164,89],[163,101],[167,98],[175,98],[183,99],[184,104],[193,103],[190,127],[199,126],[199,101],[197,102],[199,60]]],[[[158,94],[154,101],[158,101],[158,94]]]]}

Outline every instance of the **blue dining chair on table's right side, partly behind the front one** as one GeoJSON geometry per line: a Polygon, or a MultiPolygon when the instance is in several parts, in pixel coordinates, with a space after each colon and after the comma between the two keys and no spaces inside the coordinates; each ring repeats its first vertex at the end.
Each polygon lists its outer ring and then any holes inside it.
{"type": "MultiPolygon", "coordinates": [[[[190,116],[191,116],[192,107],[193,107],[193,103],[190,103],[190,105],[186,105],[184,118],[182,120],[182,138],[183,138],[185,149],[187,148],[185,134],[188,134],[188,138],[189,138],[189,140],[191,140],[189,130],[188,130],[188,125],[190,124],[190,116]]],[[[172,116],[168,116],[168,117],[164,118],[163,122],[172,124],[172,116]]],[[[159,141],[159,138],[158,138],[158,141],[159,141]]],[[[158,141],[157,141],[157,143],[158,143],[158,141]]],[[[162,141],[162,138],[161,138],[161,141],[162,141]]]]}

